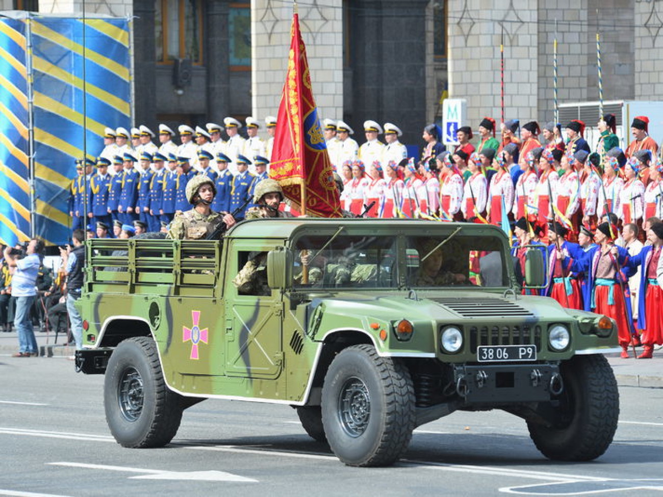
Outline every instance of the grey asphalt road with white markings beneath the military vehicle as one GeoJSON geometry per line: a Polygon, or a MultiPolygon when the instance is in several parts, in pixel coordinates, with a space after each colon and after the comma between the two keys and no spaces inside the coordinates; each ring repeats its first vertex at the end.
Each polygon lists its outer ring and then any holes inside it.
{"type": "Polygon", "coordinates": [[[615,442],[591,463],[552,463],[524,421],[461,413],[415,431],[394,467],[345,467],[287,406],[207,400],[163,449],[110,437],[103,376],[66,359],[0,357],[0,495],[663,495],[663,390],[621,388],[615,442]],[[658,490],[658,492],[656,492],[658,490]]]}

